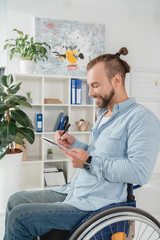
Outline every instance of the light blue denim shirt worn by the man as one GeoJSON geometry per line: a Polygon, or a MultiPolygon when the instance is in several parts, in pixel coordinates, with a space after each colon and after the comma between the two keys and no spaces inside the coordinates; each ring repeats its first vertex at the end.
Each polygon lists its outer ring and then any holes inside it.
{"type": "Polygon", "coordinates": [[[91,170],[78,169],[71,183],[56,190],[82,210],[126,201],[127,183],[147,183],[159,151],[160,122],[134,98],[116,104],[110,119],[97,128],[105,113],[99,111],[89,145],[77,139],[72,145],[93,157],[91,170]]]}

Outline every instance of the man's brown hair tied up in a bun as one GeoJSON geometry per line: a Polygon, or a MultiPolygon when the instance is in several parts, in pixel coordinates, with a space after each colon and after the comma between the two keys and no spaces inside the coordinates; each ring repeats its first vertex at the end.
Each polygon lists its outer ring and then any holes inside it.
{"type": "Polygon", "coordinates": [[[103,54],[93,60],[87,65],[87,71],[89,71],[96,63],[104,62],[105,72],[109,80],[116,74],[122,77],[123,83],[126,73],[130,72],[130,66],[128,63],[120,58],[121,55],[127,55],[128,50],[126,47],[122,47],[116,54],[103,54]]]}

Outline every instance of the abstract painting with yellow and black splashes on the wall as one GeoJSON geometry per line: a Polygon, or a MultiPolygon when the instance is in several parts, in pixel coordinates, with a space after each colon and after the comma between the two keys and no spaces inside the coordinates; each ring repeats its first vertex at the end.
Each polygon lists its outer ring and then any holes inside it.
{"type": "Polygon", "coordinates": [[[105,52],[105,24],[36,17],[35,38],[52,49],[50,61],[36,65],[40,74],[86,76],[87,63],[105,52]]]}

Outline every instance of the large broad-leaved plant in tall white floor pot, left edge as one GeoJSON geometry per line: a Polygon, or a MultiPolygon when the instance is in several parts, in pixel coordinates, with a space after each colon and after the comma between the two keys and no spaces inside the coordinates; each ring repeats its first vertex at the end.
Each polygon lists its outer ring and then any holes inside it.
{"type": "Polygon", "coordinates": [[[0,86],[0,211],[5,209],[8,197],[19,190],[24,140],[34,142],[34,128],[22,106],[32,107],[26,97],[17,95],[21,83],[13,84],[13,76],[3,75],[0,86]],[[20,156],[20,157],[19,157],[20,156]]]}

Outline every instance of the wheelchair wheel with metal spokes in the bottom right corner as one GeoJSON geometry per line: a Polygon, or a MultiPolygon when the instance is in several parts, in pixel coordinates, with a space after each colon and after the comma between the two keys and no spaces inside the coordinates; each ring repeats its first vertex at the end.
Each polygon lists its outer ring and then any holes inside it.
{"type": "Polygon", "coordinates": [[[134,207],[113,207],[83,222],[68,240],[158,240],[160,223],[134,207]]]}

